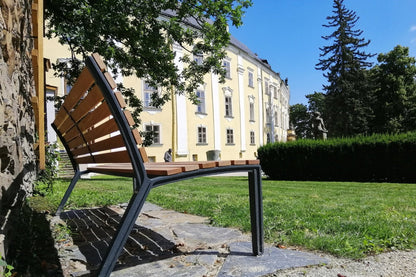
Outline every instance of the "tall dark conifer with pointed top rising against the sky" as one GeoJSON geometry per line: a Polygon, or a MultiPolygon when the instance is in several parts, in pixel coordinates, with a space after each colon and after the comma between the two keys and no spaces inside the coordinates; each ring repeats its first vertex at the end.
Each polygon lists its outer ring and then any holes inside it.
{"type": "Polygon", "coordinates": [[[321,51],[316,69],[324,71],[328,84],[325,114],[329,136],[353,136],[369,132],[372,118],[371,93],[368,89],[367,59],[374,55],[362,50],[370,41],[361,37],[363,31],[354,29],[359,17],[348,10],[343,0],[334,0],[333,15],[328,16],[327,28],[335,28],[323,39],[333,44],[319,48],[321,51]]]}

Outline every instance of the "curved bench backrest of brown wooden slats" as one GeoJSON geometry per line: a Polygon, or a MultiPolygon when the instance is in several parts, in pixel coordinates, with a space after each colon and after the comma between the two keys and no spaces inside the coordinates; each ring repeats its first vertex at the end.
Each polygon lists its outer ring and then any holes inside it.
{"type": "MultiPolygon", "coordinates": [[[[52,124],[74,169],[79,170],[80,164],[131,163],[132,159],[147,162],[140,133],[131,128],[134,120],[121,93],[113,93],[116,83],[105,64],[98,54],[86,63],[52,124]],[[132,148],[132,144],[140,158],[130,157],[126,147],[132,148]]],[[[139,167],[140,175],[145,174],[143,165],[139,167]]]]}

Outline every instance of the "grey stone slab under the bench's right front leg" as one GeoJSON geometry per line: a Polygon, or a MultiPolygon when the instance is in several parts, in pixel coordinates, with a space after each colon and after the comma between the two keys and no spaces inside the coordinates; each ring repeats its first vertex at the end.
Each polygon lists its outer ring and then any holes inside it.
{"type": "Polygon", "coordinates": [[[326,259],[311,253],[276,247],[267,247],[262,256],[255,257],[251,255],[250,242],[236,242],[230,244],[230,254],[225,259],[218,277],[258,277],[280,269],[327,262],[326,259]]]}

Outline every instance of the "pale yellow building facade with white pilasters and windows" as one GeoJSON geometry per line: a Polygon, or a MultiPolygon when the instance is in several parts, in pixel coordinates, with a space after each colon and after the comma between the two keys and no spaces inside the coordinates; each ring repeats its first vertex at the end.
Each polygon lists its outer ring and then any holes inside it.
{"type": "MultiPolygon", "coordinates": [[[[45,58],[51,63],[70,57],[67,47],[56,40],[45,41],[44,48],[45,58]]],[[[183,68],[180,57],[184,50],[178,45],[173,49],[176,65],[183,68]]],[[[144,103],[140,128],[155,134],[153,144],[146,148],[150,160],[163,161],[169,148],[175,161],[255,159],[259,146],[286,141],[290,95],[287,82],[266,60],[258,58],[234,37],[226,52],[225,83],[220,83],[216,74],[207,74],[196,92],[198,105],[183,95],[174,95],[160,109],[154,108],[150,95],[160,88],[149,87],[144,80],[132,76],[116,80],[134,88],[144,103]]],[[[54,77],[52,70],[46,77],[48,96],[65,94],[65,80],[54,77]]],[[[52,122],[53,103],[49,102],[47,107],[48,122],[52,122]]],[[[48,133],[53,132],[48,128],[48,133]]],[[[52,134],[51,140],[54,139],[52,134]]]]}

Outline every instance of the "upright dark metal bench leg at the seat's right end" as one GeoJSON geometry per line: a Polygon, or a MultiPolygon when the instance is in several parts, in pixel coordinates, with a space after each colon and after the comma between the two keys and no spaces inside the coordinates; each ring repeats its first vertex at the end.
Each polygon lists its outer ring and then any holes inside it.
{"type": "Polygon", "coordinates": [[[264,252],[263,199],[260,170],[256,169],[249,171],[248,179],[250,194],[251,241],[253,255],[258,256],[264,252]]]}

